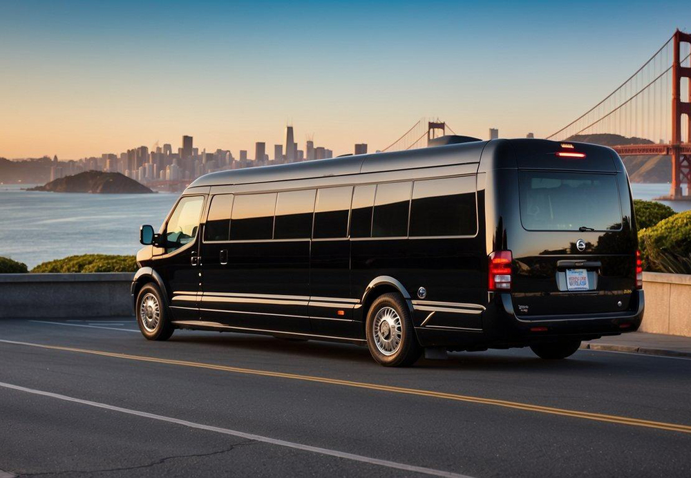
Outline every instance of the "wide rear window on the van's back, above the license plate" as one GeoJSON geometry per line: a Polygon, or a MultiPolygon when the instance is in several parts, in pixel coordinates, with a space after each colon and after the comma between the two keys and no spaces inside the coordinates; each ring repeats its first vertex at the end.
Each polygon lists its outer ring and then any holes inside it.
{"type": "Polygon", "coordinates": [[[621,207],[614,175],[520,171],[519,182],[520,216],[525,229],[621,229],[621,207]]]}

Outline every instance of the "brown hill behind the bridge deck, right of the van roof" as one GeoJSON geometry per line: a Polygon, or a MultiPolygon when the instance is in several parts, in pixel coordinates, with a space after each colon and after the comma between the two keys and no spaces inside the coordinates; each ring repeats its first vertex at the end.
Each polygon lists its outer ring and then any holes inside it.
{"type": "MultiPolygon", "coordinates": [[[[600,133],[596,135],[574,135],[567,141],[616,146],[617,144],[652,144],[642,137],[625,137],[600,133]]],[[[670,156],[625,156],[621,158],[629,173],[631,182],[670,182],[672,178],[672,158],[670,156]]]]}

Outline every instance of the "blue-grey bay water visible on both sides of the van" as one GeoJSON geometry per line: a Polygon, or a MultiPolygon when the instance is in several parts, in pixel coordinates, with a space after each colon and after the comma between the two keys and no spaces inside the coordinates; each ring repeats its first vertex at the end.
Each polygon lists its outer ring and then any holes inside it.
{"type": "MultiPolygon", "coordinates": [[[[135,254],[139,227],[158,230],[177,193],[81,194],[23,191],[0,184],[0,256],[34,267],[73,254],[135,254]]],[[[669,184],[632,184],[634,198],[668,194],[669,184]]],[[[691,202],[668,201],[675,211],[691,202]]]]}

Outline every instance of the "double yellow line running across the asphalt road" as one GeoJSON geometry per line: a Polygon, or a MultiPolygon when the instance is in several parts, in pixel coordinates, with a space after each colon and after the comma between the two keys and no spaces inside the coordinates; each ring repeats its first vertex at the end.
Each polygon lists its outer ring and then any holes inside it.
{"type": "Polygon", "coordinates": [[[299,381],[328,383],[330,385],[341,385],[352,388],[363,388],[368,390],[378,390],[380,392],[392,392],[407,395],[428,396],[437,399],[445,399],[452,401],[464,401],[469,403],[480,403],[482,405],[495,405],[504,408],[515,408],[518,410],[526,410],[529,412],[539,412],[553,415],[561,415],[564,417],[580,418],[585,420],[605,421],[609,423],[618,423],[620,425],[638,426],[644,428],[657,428],[659,430],[668,430],[672,432],[691,433],[691,426],[680,423],[665,423],[662,421],[635,419],[630,417],[622,417],[619,415],[609,415],[602,413],[581,412],[578,410],[568,410],[565,408],[554,408],[543,405],[533,405],[531,403],[515,402],[499,399],[487,399],[482,396],[460,395],[448,392],[435,392],[433,390],[422,390],[417,388],[404,388],[394,385],[379,385],[377,383],[355,382],[341,379],[328,379],[321,376],[310,376],[291,374],[286,372],[271,372],[268,370],[256,370],[250,368],[232,367],[230,365],[217,365],[214,363],[190,362],[176,359],[160,359],[158,357],[122,354],[120,352],[104,352],[102,350],[80,349],[76,347],[63,347],[61,345],[46,345],[41,343],[29,343],[19,341],[8,341],[0,339],[0,343],[8,343],[12,345],[26,345],[28,347],[38,347],[48,350],[61,350],[64,352],[77,352],[80,354],[100,355],[106,357],[113,357],[115,359],[126,359],[141,362],[164,363],[167,365],[180,365],[183,367],[205,368],[209,370],[220,370],[223,372],[233,372],[237,374],[271,376],[280,379],[291,379],[299,381]]]}

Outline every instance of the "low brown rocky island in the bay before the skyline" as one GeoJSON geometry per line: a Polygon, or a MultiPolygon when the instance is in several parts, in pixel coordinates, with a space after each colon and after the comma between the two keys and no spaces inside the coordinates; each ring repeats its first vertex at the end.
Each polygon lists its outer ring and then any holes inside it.
{"type": "Polygon", "coordinates": [[[37,186],[28,191],[52,191],[54,193],[95,193],[95,194],[141,194],[153,193],[126,175],[104,173],[102,171],[84,171],[73,176],[65,176],[37,186]]]}

